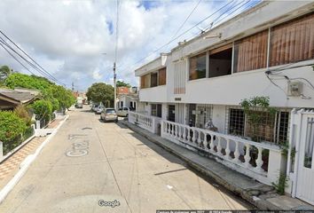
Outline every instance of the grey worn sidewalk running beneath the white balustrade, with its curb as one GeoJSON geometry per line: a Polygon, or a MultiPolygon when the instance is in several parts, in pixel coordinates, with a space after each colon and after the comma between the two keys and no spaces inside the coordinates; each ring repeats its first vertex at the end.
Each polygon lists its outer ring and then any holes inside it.
{"type": "Polygon", "coordinates": [[[130,122],[122,120],[119,122],[158,146],[163,147],[169,151],[169,153],[176,154],[193,169],[214,179],[219,185],[223,185],[228,190],[255,205],[257,209],[314,210],[314,207],[310,206],[310,204],[285,195],[279,195],[272,186],[259,183],[253,178],[231,170],[215,160],[201,156],[182,146],[178,146],[130,122]]]}

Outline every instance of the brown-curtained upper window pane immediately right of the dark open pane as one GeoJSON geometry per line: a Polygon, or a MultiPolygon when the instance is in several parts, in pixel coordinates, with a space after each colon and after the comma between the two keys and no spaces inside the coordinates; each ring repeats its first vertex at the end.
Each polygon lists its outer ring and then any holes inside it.
{"type": "Polygon", "coordinates": [[[233,72],[239,73],[267,66],[268,30],[234,43],[233,72]]]}

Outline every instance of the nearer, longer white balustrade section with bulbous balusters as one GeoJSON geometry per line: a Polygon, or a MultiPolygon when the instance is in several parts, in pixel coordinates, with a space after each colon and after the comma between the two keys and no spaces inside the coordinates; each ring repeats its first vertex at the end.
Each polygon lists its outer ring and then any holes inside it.
{"type": "Polygon", "coordinates": [[[223,162],[226,166],[265,184],[275,182],[279,176],[281,169],[279,146],[163,120],[161,137],[174,142],[180,141],[213,154],[218,162],[223,162]],[[264,163],[266,165],[263,165],[264,163]]]}

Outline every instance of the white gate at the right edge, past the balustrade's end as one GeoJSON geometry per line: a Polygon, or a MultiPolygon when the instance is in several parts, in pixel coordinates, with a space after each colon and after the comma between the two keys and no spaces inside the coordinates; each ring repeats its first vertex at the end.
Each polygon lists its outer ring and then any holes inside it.
{"type": "Polygon", "coordinates": [[[314,205],[314,114],[303,114],[296,196],[314,205]]]}

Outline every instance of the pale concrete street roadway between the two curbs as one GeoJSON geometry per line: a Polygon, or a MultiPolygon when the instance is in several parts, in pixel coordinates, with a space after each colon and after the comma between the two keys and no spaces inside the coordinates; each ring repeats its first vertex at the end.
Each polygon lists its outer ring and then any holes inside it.
{"type": "Polygon", "coordinates": [[[71,111],[0,212],[251,209],[246,202],[89,106],[71,111]]]}

